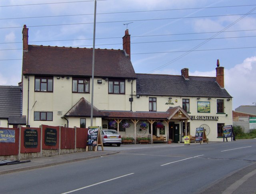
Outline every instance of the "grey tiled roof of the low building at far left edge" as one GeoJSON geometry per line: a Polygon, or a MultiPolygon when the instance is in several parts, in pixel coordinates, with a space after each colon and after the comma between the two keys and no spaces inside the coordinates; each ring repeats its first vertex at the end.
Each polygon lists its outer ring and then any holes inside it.
{"type": "Polygon", "coordinates": [[[0,118],[7,119],[10,125],[26,125],[20,86],[0,86],[0,118]]]}

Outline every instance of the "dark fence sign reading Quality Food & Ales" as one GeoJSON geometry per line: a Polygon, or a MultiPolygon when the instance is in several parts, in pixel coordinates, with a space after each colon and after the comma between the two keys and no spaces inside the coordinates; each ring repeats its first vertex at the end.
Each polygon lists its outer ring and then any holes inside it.
{"type": "Polygon", "coordinates": [[[37,148],[38,132],[36,129],[24,130],[24,146],[25,148],[37,148]]]}

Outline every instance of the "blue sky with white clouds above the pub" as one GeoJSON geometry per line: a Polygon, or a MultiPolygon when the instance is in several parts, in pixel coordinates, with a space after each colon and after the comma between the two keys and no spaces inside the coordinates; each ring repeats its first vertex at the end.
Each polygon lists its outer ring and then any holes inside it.
{"type": "MultiPolygon", "coordinates": [[[[256,102],[255,0],[97,0],[95,48],[131,35],[136,73],[216,76],[224,67],[233,110],[256,102]]],[[[92,48],[95,0],[1,0],[0,85],[17,86],[22,28],[28,44],[92,48]]]]}

